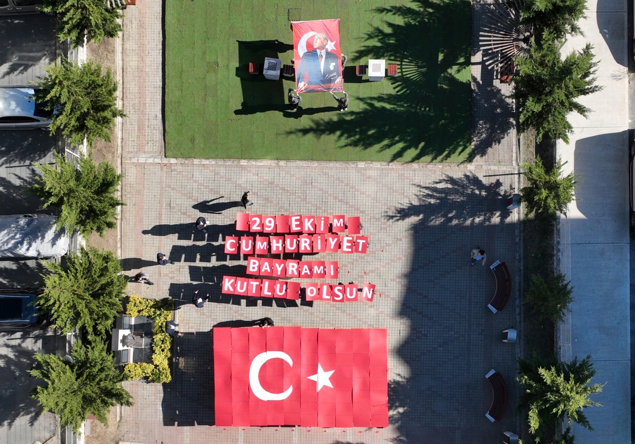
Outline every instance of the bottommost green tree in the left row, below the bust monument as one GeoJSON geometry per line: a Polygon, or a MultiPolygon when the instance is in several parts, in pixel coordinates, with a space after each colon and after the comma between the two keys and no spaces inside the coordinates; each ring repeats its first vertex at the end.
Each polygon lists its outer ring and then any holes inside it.
{"type": "Polygon", "coordinates": [[[132,396],[121,385],[124,376],[115,369],[104,341],[93,337],[88,347],[75,343],[72,362],[52,354],[37,353],[34,357],[41,369],[29,373],[46,384],[36,387],[31,396],[44,412],[58,415],[62,426],[77,432],[91,413],[107,425],[110,407],[132,405],[132,396]]]}

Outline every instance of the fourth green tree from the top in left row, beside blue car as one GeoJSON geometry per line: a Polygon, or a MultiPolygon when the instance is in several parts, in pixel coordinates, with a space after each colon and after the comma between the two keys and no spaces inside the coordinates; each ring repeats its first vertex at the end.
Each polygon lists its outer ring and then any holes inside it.
{"type": "Polygon", "coordinates": [[[50,313],[52,327],[68,333],[75,328],[103,334],[121,312],[126,278],[110,251],[95,247],[69,254],[65,266],[43,261],[44,289],[37,297],[39,310],[50,313]]]}

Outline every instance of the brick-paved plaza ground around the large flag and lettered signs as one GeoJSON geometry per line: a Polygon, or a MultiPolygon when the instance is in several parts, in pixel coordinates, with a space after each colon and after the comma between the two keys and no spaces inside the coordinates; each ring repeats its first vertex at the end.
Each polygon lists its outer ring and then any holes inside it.
{"type": "MultiPolygon", "coordinates": [[[[514,135],[495,136],[483,105],[476,113],[491,149],[477,142],[476,164],[340,164],[324,162],[164,159],[161,129],[161,8],[148,2],[124,18],[122,258],[126,273],[144,270],[156,285],[130,284],[130,294],[178,301],[179,329],[173,382],[126,383],[135,397],[124,407],[124,439],[138,443],[496,442],[518,430],[512,408],[517,347],[500,332],[517,327],[518,298],[493,315],[486,304],[495,284],[488,267],[469,266],[469,252],[485,247],[488,264],[507,261],[519,276],[518,214],[504,207],[516,188],[509,148],[514,135]],[[237,201],[252,190],[251,212],[359,215],[370,236],[366,255],[321,254],[339,261],[342,282],[373,282],[373,303],[251,301],[221,296],[220,278],[239,274],[244,261],[223,253],[234,232],[237,201]],[[212,225],[195,232],[203,214],[212,225]],[[175,264],[159,266],[157,252],[175,264]],[[210,294],[202,310],[192,292],[210,294]],[[385,429],[213,427],[211,333],[219,322],[269,316],[276,325],[388,329],[391,426],[385,429]],[[485,374],[504,374],[511,399],[504,421],[485,418],[491,391],[485,374]]],[[[475,55],[478,58],[478,54],[475,55]]],[[[474,67],[475,94],[501,103],[474,67]],[[480,85],[485,86],[482,88],[480,85]]],[[[511,109],[511,108],[508,108],[511,109]]],[[[514,294],[518,282],[514,284],[514,294]]]]}

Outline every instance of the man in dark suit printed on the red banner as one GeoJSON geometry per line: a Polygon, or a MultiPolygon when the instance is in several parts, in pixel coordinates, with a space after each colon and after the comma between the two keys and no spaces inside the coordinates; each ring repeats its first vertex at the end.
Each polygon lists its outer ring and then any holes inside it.
{"type": "Polygon", "coordinates": [[[340,60],[326,49],[327,45],[328,37],[319,32],[313,37],[312,51],[306,51],[302,55],[296,72],[298,93],[341,88],[340,60]]]}

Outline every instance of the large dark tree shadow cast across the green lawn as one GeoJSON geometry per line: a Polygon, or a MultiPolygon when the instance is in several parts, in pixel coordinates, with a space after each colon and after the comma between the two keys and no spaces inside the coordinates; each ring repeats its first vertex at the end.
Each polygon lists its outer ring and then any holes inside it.
{"type": "Polygon", "coordinates": [[[412,4],[377,8],[384,23],[373,27],[364,36],[365,46],[349,57],[398,60],[399,74],[384,79],[394,93],[351,98],[358,103],[337,121],[312,121],[289,134],[335,135],[343,148],[391,152],[391,160],[402,162],[447,160],[469,152],[471,83],[461,76],[470,65],[470,3],[412,4]]]}

